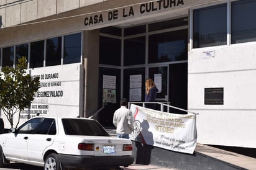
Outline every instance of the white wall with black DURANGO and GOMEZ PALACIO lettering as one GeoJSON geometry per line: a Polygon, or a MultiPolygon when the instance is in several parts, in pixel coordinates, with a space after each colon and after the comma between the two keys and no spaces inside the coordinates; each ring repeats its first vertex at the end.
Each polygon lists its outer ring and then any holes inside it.
{"type": "MultiPolygon", "coordinates": [[[[40,76],[41,87],[35,94],[30,109],[21,112],[21,121],[24,123],[38,113],[43,116],[77,117],[83,111],[83,67],[80,64],[48,66],[45,68],[30,69],[31,76],[40,76]],[[54,74],[55,76],[50,76],[54,74]],[[45,95],[43,95],[45,94],[45,95]],[[58,95],[57,95],[58,94],[58,95]],[[61,95],[59,95],[61,94],[61,95]]],[[[10,128],[6,116],[1,112],[5,128],[10,128]]],[[[17,124],[18,114],[15,115],[14,127],[17,124]]]]}

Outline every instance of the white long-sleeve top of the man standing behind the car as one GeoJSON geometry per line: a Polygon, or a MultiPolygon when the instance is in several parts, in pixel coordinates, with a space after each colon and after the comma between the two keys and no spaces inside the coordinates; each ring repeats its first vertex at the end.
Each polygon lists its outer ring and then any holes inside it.
{"type": "Polygon", "coordinates": [[[117,134],[130,134],[134,130],[134,117],[132,112],[121,106],[114,112],[113,124],[116,126],[117,134]]]}

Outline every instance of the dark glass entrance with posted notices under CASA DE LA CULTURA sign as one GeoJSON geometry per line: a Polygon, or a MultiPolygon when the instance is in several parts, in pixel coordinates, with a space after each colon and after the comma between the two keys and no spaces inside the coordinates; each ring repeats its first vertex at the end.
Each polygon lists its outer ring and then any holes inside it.
{"type": "MultiPolygon", "coordinates": [[[[145,101],[148,78],[159,89],[157,102],[170,102],[186,109],[187,17],[129,28],[107,27],[100,29],[99,37],[98,105],[104,109],[98,119],[103,126],[112,125],[121,98],[129,102],[145,101]]],[[[178,110],[169,112],[183,114],[178,110]]]]}

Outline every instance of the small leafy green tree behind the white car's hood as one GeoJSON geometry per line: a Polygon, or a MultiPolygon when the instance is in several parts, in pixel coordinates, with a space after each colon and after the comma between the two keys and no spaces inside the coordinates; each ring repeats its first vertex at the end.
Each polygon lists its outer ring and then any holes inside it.
{"type": "Polygon", "coordinates": [[[40,87],[39,77],[32,78],[26,69],[27,60],[22,57],[19,58],[16,68],[6,66],[0,73],[0,109],[6,115],[11,128],[14,127],[14,115],[19,113],[18,125],[21,111],[30,107],[35,92],[40,87]]]}

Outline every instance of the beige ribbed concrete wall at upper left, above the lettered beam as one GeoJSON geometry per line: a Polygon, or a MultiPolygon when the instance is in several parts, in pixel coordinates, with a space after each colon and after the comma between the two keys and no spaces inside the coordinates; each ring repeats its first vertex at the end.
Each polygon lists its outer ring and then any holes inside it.
{"type": "Polygon", "coordinates": [[[4,27],[22,24],[107,0],[0,0],[4,27]]]}

